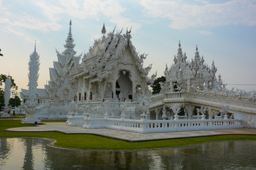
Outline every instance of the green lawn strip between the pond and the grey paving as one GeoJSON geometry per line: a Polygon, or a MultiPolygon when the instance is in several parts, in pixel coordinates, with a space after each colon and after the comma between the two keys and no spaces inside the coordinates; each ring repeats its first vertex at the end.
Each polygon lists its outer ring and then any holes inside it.
{"type": "Polygon", "coordinates": [[[60,132],[7,132],[6,128],[26,127],[21,120],[0,120],[0,137],[45,137],[57,140],[58,147],[80,149],[153,149],[162,147],[180,147],[203,142],[220,140],[256,140],[256,135],[218,135],[211,137],[191,137],[173,140],[153,140],[148,142],[127,142],[113,140],[97,135],[74,134],[65,135],[60,132]]]}

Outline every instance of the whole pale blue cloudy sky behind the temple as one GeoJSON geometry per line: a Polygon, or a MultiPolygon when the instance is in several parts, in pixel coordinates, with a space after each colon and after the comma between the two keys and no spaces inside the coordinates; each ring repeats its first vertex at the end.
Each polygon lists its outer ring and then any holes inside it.
{"type": "MultiPolygon", "coordinates": [[[[20,89],[28,89],[28,61],[40,55],[38,88],[50,79],[49,68],[64,51],[69,22],[77,55],[88,52],[95,38],[132,28],[132,43],[148,57],[150,74],[164,75],[181,41],[188,60],[196,45],[208,65],[213,60],[223,82],[256,90],[255,0],[0,0],[0,74],[10,74],[20,89]]],[[[217,75],[218,76],[218,75],[217,75]]]]}

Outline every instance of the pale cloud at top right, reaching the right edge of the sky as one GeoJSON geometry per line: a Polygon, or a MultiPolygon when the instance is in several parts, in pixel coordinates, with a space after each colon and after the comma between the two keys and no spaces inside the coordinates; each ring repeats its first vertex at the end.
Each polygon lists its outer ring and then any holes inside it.
{"type": "Polygon", "coordinates": [[[181,1],[142,0],[144,13],[152,18],[167,18],[171,28],[256,26],[256,2],[232,0],[210,4],[208,1],[185,4],[181,1]]]}

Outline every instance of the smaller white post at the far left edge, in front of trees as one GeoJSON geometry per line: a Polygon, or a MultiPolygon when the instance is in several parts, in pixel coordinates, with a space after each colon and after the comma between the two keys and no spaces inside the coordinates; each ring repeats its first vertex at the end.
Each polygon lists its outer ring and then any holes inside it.
{"type": "Polygon", "coordinates": [[[7,77],[6,81],[4,81],[4,113],[1,117],[10,117],[11,114],[8,113],[9,111],[9,100],[10,100],[10,92],[11,92],[11,79],[7,77]]]}

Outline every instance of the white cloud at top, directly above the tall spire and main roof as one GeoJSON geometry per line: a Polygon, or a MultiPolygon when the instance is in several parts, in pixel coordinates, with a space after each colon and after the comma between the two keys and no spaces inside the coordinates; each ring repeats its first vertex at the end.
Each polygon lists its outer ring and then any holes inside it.
{"type": "MultiPolygon", "coordinates": [[[[131,18],[122,16],[122,13],[126,10],[122,7],[118,1],[114,0],[61,0],[58,3],[50,4],[48,1],[39,1],[36,3],[42,8],[43,13],[50,18],[59,18],[60,15],[68,14],[73,18],[95,18],[100,17],[108,18],[112,23],[116,23],[119,27],[131,27],[134,30],[140,28],[139,23],[132,22],[131,18]],[[58,6],[57,6],[58,4],[58,6]]],[[[55,19],[57,21],[57,19],[55,19]]]]}

